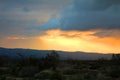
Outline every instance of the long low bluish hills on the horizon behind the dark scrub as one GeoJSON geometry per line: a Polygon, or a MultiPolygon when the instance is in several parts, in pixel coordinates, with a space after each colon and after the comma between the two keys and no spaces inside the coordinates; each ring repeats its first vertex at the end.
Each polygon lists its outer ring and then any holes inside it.
{"type": "MultiPolygon", "coordinates": [[[[33,50],[33,49],[9,49],[0,48],[0,55],[9,56],[12,58],[19,58],[19,55],[24,57],[45,57],[46,54],[50,53],[52,50],[33,50]]],[[[100,58],[110,59],[111,54],[100,54],[100,53],[85,53],[85,52],[65,52],[56,51],[61,59],[79,59],[79,60],[95,60],[100,58]]]]}

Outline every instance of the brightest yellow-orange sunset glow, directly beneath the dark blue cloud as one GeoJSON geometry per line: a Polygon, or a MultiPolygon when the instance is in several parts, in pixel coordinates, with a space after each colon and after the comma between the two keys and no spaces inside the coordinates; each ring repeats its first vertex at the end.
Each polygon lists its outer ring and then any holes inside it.
{"type": "Polygon", "coordinates": [[[98,53],[120,53],[120,38],[94,36],[97,31],[49,30],[39,37],[41,49],[84,51],[98,53]]]}

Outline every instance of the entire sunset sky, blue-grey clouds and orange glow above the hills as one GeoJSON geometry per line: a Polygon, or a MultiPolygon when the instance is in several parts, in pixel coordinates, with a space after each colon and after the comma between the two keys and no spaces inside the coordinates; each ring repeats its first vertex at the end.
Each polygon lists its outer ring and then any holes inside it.
{"type": "Polygon", "coordinates": [[[0,0],[0,47],[120,53],[120,0],[0,0]]]}

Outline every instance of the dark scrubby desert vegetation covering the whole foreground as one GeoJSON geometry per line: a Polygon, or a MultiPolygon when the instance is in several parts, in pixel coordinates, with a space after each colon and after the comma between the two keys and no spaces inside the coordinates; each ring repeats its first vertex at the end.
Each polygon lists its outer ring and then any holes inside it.
{"type": "Polygon", "coordinates": [[[0,80],[120,80],[120,54],[111,60],[60,60],[52,51],[44,58],[0,56],[0,80]]]}

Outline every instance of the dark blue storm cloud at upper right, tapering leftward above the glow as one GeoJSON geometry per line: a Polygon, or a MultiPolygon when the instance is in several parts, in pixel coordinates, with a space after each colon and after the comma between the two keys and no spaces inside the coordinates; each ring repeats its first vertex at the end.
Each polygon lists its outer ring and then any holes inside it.
{"type": "Polygon", "coordinates": [[[32,28],[40,30],[120,29],[120,0],[75,0],[47,23],[32,28]]]}

